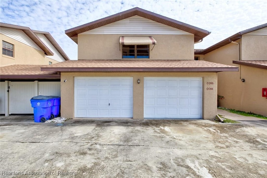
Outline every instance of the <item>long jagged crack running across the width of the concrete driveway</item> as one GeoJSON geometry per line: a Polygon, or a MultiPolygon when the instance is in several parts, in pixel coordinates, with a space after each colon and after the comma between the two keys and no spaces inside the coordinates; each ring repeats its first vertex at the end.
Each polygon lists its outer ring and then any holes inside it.
{"type": "Polygon", "coordinates": [[[166,148],[166,149],[191,149],[191,150],[205,150],[205,151],[221,151],[221,152],[241,152],[241,151],[254,151],[254,152],[262,152],[260,150],[219,150],[219,149],[196,149],[196,148],[174,148],[174,147],[160,147],[160,146],[152,146],[152,145],[123,145],[123,144],[108,144],[108,143],[99,143],[99,142],[83,142],[83,141],[31,141],[31,142],[22,142],[22,141],[0,141],[7,143],[87,143],[87,144],[95,144],[95,145],[110,145],[110,146],[129,146],[129,147],[154,147],[154,148],[166,148]]]}

